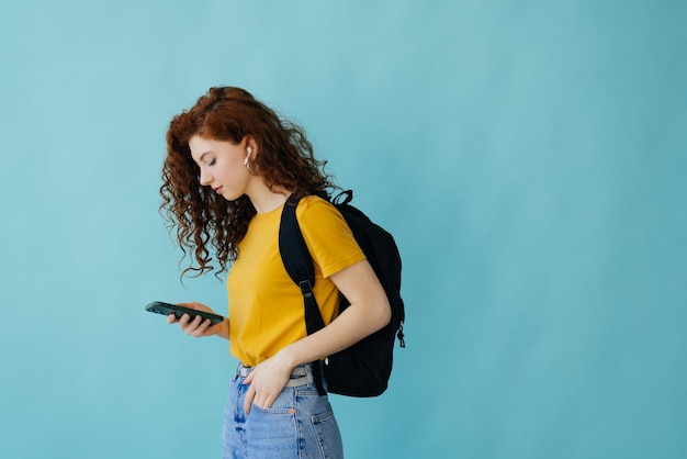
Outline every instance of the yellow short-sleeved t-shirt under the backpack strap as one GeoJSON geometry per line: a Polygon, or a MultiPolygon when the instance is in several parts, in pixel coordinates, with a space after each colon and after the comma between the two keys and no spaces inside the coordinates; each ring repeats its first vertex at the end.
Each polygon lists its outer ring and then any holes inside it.
{"type": "MultiPolygon", "coordinates": [[[[227,278],[230,351],[248,367],[307,335],[301,289],[286,273],[279,253],[282,209],[252,217],[227,278]]],[[[313,257],[313,292],[327,325],[339,304],[329,277],[365,256],[339,211],[326,200],[303,198],[296,217],[313,257]]]]}

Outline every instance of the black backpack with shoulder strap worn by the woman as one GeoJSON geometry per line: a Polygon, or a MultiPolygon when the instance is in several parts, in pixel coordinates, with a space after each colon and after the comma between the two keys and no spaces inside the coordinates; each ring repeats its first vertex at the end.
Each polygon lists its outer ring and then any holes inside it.
{"type": "MultiPolygon", "coordinates": [[[[301,227],[296,206],[301,198],[291,195],[284,205],[279,231],[279,250],[291,279],[301,288],[305,304],[305,325],[311,335],[325,324],[313,294],[315,271],[301,227]]],[[[339,193],[331,202],[339,210],[386,291],[392,317],[388,325],[361,342],[328,356],[324,368],[329,392],[350,396],[376,396],[386,390],[393,363],[396,336],[405,347],[403,323],[405,309],[401,298],[401,256],[391,234],[372,223],[360,210],[350,205],[351,190],[339,193]]],[[[339,313],[350,303],[344,295],[339,313]]],[[[324,395],[319,362],[313,362],[313,376],[319,394],[324,395]]]]}

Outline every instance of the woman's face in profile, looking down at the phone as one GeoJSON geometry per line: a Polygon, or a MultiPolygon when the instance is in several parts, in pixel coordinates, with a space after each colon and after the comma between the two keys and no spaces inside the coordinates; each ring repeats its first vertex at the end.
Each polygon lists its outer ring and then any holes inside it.
{"type": "Polygon", "coordinates": [[[234,145],[194,135],[189,139],[189,147],[193,160],[201,168],[202,186],[212,187],[217,194],[229,201],[247,193],[248,186],[255,177],[244,164],[250,150],[246,139],[234,145]]]}

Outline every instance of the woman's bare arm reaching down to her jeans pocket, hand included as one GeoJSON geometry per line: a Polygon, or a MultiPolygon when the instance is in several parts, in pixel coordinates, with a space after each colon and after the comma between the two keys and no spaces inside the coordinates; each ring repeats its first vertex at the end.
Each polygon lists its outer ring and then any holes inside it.
{"type": "Polygon", "coordinates": [[[246,378],[250,404],[269,408],[299,365],[318,360],[358,343],[391,321],[391,306],[374,270],[363,260],[331,276],[350,305],[323,329],[300,339],[264,360],[246,378]]]}

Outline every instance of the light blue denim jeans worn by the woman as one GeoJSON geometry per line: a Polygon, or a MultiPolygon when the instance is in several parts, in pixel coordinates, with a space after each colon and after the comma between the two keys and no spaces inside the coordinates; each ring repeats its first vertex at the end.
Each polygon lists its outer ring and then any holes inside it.
{"type": "Polygon", "coordinates": [[[269,410],[254,404],[249,414],[244,412],[249,369],[239,370],[229,383],[224,410],[225,459],[344,458],[339,426],[327,395],[317,394],[309,365],[296,367],[292,374],[300,385],[284,388],[269,410]]]}

